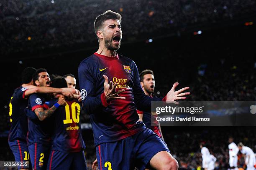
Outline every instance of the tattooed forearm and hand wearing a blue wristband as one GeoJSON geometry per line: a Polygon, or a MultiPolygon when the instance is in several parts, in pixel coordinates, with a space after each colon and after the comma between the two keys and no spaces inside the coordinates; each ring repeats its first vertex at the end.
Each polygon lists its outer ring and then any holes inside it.
{"type": "MultiPolygon", "coordinates": [[[[61,96],[59,97],[59,100],[58,100],[57,103],[58,103],[59,105],[66,105],[66,101],[65,101],[63,95],[61,95],[61,96]]],[[[57,109],[57,108],[56,108],[56,106],[54,106],[54,105],[53,105],[51,108],[47,109],[47,110],[44,110],[43,107],[39,107],[39,108],[36,108],[36,109],[35,109],[35,113],[36,113],[38,119],[41,120],[41,121],[43,121],[43,120],[45,120],[47,117],[50,117],[50,116],[54,113],[54,111],[55,111],[56,109],[57,109]]]]}

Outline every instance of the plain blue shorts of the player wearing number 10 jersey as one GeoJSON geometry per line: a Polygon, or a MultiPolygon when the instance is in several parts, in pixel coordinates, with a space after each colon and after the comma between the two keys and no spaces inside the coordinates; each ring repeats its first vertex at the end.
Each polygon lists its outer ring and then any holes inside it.
{"type": "Polygon", "coordinates": [[[51,150],[47,170],[87,170],[84,151],[64,153],[51,150]]]}

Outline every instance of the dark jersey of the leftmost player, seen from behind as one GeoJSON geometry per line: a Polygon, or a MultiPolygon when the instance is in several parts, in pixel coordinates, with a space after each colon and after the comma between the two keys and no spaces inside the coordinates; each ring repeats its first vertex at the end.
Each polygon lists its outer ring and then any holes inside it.
{"type": "Polygon", "coordinates": [[[9,103],[10,115],[10,131],[8,140],[13,141],[17,139],[26,140],[28,132],[28,120],[24,109],[28,105],[28,100],[25,99],[26,87],[18,87],[14,90],[13,96],[9,103]]]}

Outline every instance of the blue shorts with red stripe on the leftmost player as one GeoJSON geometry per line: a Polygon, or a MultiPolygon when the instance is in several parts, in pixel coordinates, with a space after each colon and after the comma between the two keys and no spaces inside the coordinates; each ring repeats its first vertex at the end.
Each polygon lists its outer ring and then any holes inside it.
{"type": "MultiPolygon", "coordinates": [[[[26,162],[29,161],[29,153],[26,140],[13,140],[8,141],[10,149],[13,151],[13,155],[16,162],[26,162]]],[[[18,169],[23,169],[23,166],[18,167],[18,169]]],[[[28,169],[28,168],[26,168],[28,169]]]]}

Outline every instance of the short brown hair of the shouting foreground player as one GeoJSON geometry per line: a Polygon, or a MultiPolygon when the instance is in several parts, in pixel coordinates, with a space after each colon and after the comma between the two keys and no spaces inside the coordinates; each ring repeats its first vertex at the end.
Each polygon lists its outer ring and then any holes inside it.
{"type": "Polygon", "coordinates": [[[106,20],[119,20],[121,23],[122,16],[119,13],[115,13],[112,10],[107,10],[105,13],[100,14],[96,17],[94,21],[94,30],[97,34],[97,31],[100,30],[103,26],[103,23],[106,20]]]}

